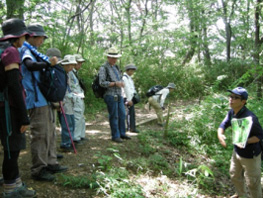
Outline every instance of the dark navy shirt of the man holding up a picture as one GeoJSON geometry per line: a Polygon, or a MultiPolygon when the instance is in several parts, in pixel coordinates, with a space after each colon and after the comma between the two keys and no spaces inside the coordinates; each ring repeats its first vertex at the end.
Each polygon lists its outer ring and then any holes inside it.
{"type": "MultiPolygon", "coordinates": [[[[244,106],[237,113],[237,115],[234,115],[234,111],[233,111],[233,109],[231,109],[228,112],[228,114],[226,115],[223,122],[220,124],[219,128],[222,128],[225,130],[228,127],[230,127],[232,118],[246,118],[249,116],[252,117],[253,124],[252,124],[248,138],[250,138],[252,136],[256,136],[258,139],[262,140],[263,131],[262,131],[262,127],[261,127],[260,123],[258,122],[258,118],[254,113],[252,113],[250,110],[248,110],[246,108],[246,106],[244,106]]],[[[254,156],[257,156],[258,154],[260,154],[260,152],[261,152],[261,147],[260,147],[259,142],[254,143],[254,144],[247,144],[244,149],[239,148],[239,147],[234,145],[234,149],[235,149],[235,152],[239,156],[244,157],[244,158],[253,158],[254,156]]]]}

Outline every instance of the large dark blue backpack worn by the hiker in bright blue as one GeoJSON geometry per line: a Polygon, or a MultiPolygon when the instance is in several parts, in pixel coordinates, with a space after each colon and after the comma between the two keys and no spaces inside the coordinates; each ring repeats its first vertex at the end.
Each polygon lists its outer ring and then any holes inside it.
{"type": "Polygon", "coordinates": [[[67,91],[67,75],[65,70],[60,65],[43,69],[38,86],[47,101],[62,101],[67,91]]]}

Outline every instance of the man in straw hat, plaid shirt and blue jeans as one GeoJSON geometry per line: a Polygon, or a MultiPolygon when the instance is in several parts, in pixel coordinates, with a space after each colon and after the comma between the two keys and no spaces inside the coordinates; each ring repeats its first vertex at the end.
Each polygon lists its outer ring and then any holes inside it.
{"type": "Polygon", "coordinates": [[[116,65],[121,55],[114,47],[111,47],[105,55],[107,61],[99,71],[100,85],[107,88],[103,98],[109,112],[111,139],[114,142],[122,143],[122,139],[129,140],[131,138],[125,134],[125,106],[122,97],[124,82],[116,65]]]}

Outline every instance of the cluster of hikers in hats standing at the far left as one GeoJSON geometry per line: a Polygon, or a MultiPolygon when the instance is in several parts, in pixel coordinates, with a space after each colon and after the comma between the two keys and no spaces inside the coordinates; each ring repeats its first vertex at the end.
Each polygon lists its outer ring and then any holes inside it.
{"type": "Polygon", "coordinates": [[[59,165],[56,146],[57,104],[47,101],[39,84],[41,72],[60,64],[67,75],[67,90],[60,103],[61,149],[69,151],[72,145],[85,138],[84,91],[78,70],[85,61],[81,55],[61,58],[57,48],[46,55],[38,48],[48,38],[39,24],[26,26],[23,20],[8,19],[2,24],[0,38],[0,135],[4,148],[2,173],[3,197],[36,197],[36,192],[22,182],[18,157],[25,149],[25,131],[31,131],[31,176],[35,180],[53,181],[54,173],[67,171],[59,165]],[[68,131],[69,130],[69,131],[68,131]],[[70,137],[69,137],[70,136],[70,137]]]}

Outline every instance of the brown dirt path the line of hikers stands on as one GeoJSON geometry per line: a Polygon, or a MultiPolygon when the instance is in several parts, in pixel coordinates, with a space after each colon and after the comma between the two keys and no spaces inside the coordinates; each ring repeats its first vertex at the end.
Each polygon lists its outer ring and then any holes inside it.
{"type": "MultiPolygon", "coordinates": [[[[173,106],[177,106],[173,104],[173,106]]],[[[93,172],[93,167],[97,163],[97,154],[104,153],[107,155],[107,148],[112,148],[118,146],[119,150],[123,155],[136,156],[136,148],[134,146],[138,145],[138,140],[136,138],[137,134],[127,133],[132,137],[132,140],[125,141],[123,144],[116,144],[111,141],[110,128],[107,118],[107,111],[100,112],[96,115],[96,119],[89,121],[87,119],[86,123],[86,137],[88,141],[85,144],[77,146],[77,154],[74,153],[63,153],[64,158],[59,160],[61,165],[68,166],[69,170],[66,175],[74,176],[88,176],[93,172]]],[[[143,107],[136,107],[136,119],[137,123],[146,123],[148,121],[154,121],[156,118],[153,110],[147,111],[143,107]]],[[[140,125],[140,130],[145,130],[149,128],[155,128],[156,125],[140,125]]],[[[57,130],[57,148],[58,153],[60,145],[60,132],[59,128],[57,130]]],[[[84,198],[84,197],[96,197],[94,190],[90,189],[72,189],[64,187],[55,182],[40,182],[32,180],[30,177],[30,167],[31,167],[31,154],[30,154],[30,134],[27,132],[27,149],[21,151],[19,158],[20,175],[22,180],[29,187],[33,187],[38,194],[38,198],[84,198]],[[55,185],[54,185],[55,184],[55,185]]],[[[3,152],[0,153],[0,158],[2,160],[3,152]]],[[[3,190],[0,187],[0,191],[3,190]]]]}

